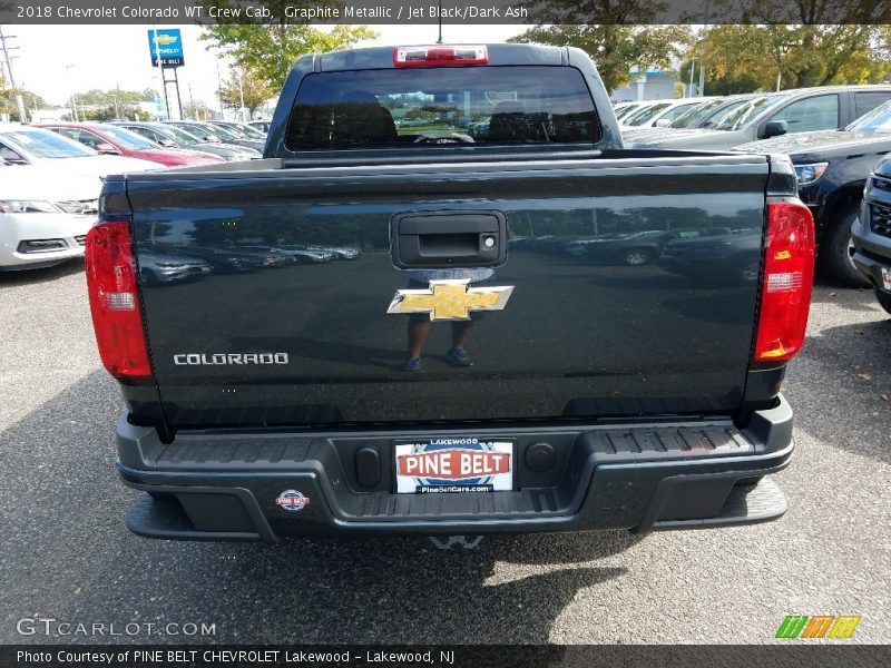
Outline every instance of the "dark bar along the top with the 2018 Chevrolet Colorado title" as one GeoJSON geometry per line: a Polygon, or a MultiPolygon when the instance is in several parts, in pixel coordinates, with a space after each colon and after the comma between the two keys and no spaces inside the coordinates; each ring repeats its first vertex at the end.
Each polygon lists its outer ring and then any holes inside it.
{"type": "Polygon", "coordinates": [[[9,24],[888,24],[891,0],[0,0],[9,24]]]}

